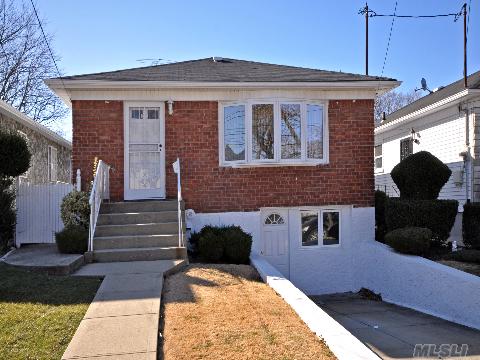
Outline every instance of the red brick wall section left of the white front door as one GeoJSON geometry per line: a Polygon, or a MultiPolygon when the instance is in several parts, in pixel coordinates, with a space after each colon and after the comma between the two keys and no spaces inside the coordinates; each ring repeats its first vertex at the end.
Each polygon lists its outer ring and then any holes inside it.
{"type": "Polygon", "coordinates": [[[110,198],[123,199],[123,102],[72,101],[73,151],[72,177],[82,171],[82,189],[93,178],[93,161],[112,165],[110,198]]]}

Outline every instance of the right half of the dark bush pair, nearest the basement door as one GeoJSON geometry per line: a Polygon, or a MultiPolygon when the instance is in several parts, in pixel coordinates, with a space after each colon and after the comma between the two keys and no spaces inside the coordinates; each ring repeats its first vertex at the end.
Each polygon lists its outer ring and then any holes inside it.
{"type": "Polygon", "coordinates": [[[248,264],[252,250],[252,235],[245,233],[240,226],[225,229],[225,258],[234,264],[248,264]]]}

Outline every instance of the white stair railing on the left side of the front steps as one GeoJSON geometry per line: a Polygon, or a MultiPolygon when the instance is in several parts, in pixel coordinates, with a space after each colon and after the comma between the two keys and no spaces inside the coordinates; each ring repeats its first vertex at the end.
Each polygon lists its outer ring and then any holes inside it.
{"type": "Polygon", "coordinates": [[[88,230],[88,251],[93,251],[93,236],[97,226],[98,213],[102,200],[110,199],[110,165],[100,160],[90,192],[90,226],[88,230]]]}

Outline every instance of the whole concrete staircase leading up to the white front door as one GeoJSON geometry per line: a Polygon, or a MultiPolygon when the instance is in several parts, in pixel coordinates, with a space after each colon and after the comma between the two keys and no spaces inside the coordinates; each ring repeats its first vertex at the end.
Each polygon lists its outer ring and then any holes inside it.
{"type": "Polygon", "coordinates": [[[178,243],[177,209],[177,200],[103,203],[93,238],[93,261],[187,258],[186,248],[178,243]]]}

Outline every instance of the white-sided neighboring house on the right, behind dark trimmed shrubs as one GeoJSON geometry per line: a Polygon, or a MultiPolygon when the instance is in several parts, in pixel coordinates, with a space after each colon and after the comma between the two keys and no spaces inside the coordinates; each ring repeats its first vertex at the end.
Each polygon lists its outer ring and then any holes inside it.
{"type": "Polygon", "coordinates": [[[480,201],[480,72],[436,89],[388,115],[375,128],[375,185],[398,196],[390,172],[400,160],[429,151],[452,170],[440,199],[480,201]]]}

